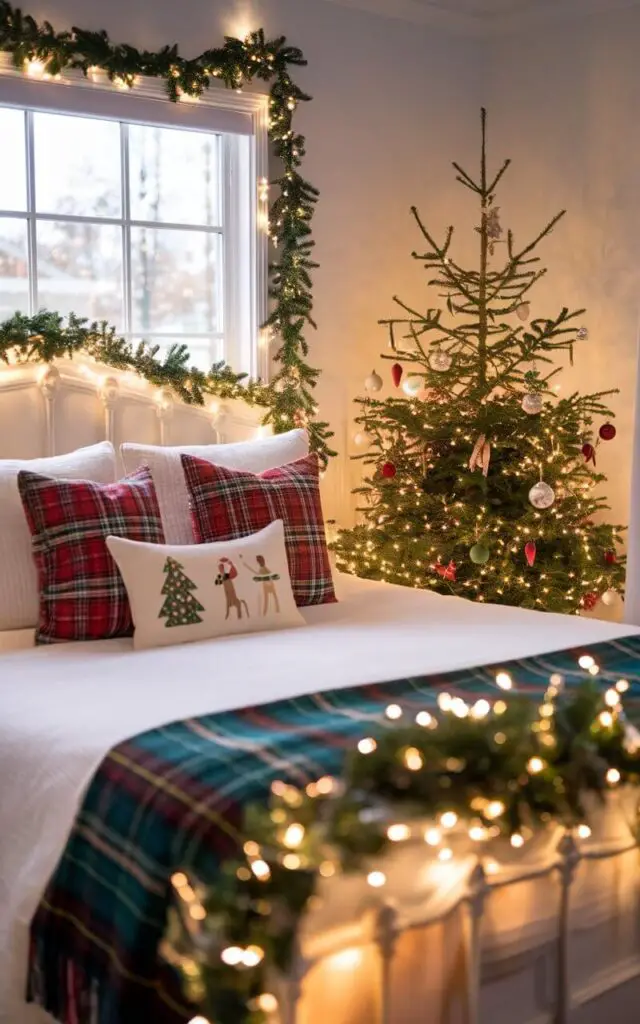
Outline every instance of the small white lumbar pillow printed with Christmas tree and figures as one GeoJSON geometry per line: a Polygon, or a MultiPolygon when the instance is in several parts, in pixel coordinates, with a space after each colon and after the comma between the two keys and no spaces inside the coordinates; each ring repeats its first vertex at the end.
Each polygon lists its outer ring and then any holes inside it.
{"type": "Polygon", "coordinates": [[[282,519],[238,541],[175,545],[108,537],[106,547],[127,588],[138,649],[304,625],[282,519]]]}

